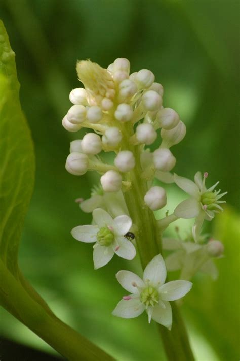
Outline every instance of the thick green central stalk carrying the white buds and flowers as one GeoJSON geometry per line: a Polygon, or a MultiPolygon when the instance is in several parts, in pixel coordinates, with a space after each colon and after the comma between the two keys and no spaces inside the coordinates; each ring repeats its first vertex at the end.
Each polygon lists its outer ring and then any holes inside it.
{"type": "MultiPolygon", "coordinates": [[[[129,149],[129,144],[125,143],[125,145],[126,149],[129,149]]],[[[144,204],[147,182],[141,178],[140,146],[132,147],[130,150],[134,153],[136,166],[125,179],[132,182],[132,187],[124,193],[124,196],[133,223],[138,228],[136,243],[144,269],[156,254],[161,253],[162,239],[153,212],[144,204]]],[[[171,302],[171,305],[173,311],[172,330],[169,331],[166,327],[158,325],[166,355],[169,361],[192,361],[194,357],[180,311],[174,302],[171,302]]]]}

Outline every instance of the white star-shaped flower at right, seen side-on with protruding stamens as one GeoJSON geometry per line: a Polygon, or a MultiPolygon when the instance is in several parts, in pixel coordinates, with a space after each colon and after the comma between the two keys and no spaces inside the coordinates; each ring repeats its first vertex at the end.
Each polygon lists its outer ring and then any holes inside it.
{"type": "Polygon", "coordinates": [[[203,178],[201,172],[197,172],[193,182],[190,179],[174,174],[174,181],[179,188],[191,195],[191,198],[181,202],[175,208],[174,214],[178,218],[196,218],[192,228],[192,235],[195,242],[197,242],[199,238],[204,219],[212,220],[215,213],[223,211],[223,208],[219,204],[225,203],[225,201],[219,200],[227,194],[227,192],[219,194],[221,189],[218,191],[214,190],[219,182],[207,189],[205,186],[207,177],[207,172],[204,173],[203,178]]]}

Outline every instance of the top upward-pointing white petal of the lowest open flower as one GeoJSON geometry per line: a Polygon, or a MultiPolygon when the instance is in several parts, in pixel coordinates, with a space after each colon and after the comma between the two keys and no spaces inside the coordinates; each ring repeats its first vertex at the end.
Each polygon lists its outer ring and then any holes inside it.
{"type": "Polygon", "coordinates": [[[149,262],[143,272],[143,280],[150,280],[152,286],[164,284],[167,277],[166,266],[161,254],[158,254],[149,262]]]}

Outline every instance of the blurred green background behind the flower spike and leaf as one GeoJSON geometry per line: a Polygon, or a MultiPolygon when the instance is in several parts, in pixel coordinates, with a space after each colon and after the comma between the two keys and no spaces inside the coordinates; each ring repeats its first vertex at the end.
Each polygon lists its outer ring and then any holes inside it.
{"type": "MultiPolygon", "coordinates": [[[[197,170],[208,171],[207,184],[220,180],[228,191],[225,212],[212,224],[225,245],[225,257],[216,261],[219,279],[197,275],[183,313],[197,360],[239,359],[238,2],[2,0],[0,17],[16,53],[21,103],[35,144],[35,189],[20,246],[26,278],[61,319],[117,359],[164,359],[155,324],[148,325],[145,314],[111,316],[123,296],[114,274],[140,272],[138,260],[115,257],[94,271],[92,247],[70,236],[73,226],[91,222],[74,199],[88,198],[98,179],[92,173],[74,177],[64,167],[69,141],[84,134],[61,125],[69,92],[79,86],[75,63],[90,58],[107,67],[127,57],[132,72],[153,71],[165,89],[164,106],[187,126],[184,141],[173,148],[176,173],[192,178],[197,170]]],[[[172,211],[185,195],[167,188],[172,211]]],[[[183,235],[190,224],[179,221],[183,235]]],[[[2,335],[53,352],[3,309],[0,319],[2,335]]]]}

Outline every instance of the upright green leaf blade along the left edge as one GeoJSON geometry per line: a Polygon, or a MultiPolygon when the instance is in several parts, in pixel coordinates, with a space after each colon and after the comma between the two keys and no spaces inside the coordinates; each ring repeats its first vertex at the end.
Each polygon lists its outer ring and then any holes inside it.
{"type": "Polygon", "coordinates": [[[15,56],[0,22],[0,256],[18,274],[18,246],[34,182],[33,144],[19,101],[15,56]]]}

